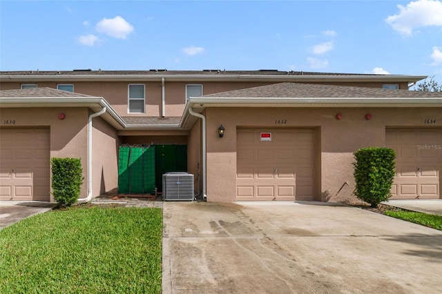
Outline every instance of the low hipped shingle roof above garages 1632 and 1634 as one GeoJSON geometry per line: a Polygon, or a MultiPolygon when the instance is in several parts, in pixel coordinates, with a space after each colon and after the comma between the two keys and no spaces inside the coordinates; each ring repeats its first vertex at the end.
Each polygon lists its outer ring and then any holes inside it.
{"type": "Polygon", "coordinates": [[[204,97],[231,98],[442,98],[442,92],[417,92],[381,88],[335,86],[323,84],[280,83],[229,92],[219,92],[204,97]]]}

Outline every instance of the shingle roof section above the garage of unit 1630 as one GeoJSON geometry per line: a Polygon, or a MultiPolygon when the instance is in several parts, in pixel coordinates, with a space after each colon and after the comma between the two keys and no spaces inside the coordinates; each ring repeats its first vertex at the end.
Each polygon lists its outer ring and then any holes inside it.
{"type": "Polygon", "coordinates": [[[57,90],[52,88],[29,88],[15,90],[0,90],[0,97],[93,97],[74,92],[57,90]]]}

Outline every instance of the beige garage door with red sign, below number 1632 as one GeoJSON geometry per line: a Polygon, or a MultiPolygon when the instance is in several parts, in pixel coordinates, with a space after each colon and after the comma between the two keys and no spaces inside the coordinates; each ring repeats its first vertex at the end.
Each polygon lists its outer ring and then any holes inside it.
{"type": "Polygon", "coordinates": [[[238,201],[314,200],[314,166],[312,129],[238,129],[238,201]]]}

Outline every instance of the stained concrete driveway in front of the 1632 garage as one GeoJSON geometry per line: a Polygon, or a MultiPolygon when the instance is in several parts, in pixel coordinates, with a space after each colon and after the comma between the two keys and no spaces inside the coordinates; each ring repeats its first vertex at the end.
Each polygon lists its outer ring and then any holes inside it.
{"type": "Polygon", "coordinates": [[[318,202],[165,202],[163,293],[442,293],[442,232],[318,202]]]}

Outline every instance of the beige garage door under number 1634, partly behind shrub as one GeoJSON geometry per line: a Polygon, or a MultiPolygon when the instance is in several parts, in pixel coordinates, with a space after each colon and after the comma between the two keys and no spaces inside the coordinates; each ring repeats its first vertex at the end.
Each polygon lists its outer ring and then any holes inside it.
{"type": "Polygon", "coordinates": [[[442,129],[392,129],[387,147],[396,151],[392,199],[441,198],[442,129]]]}

